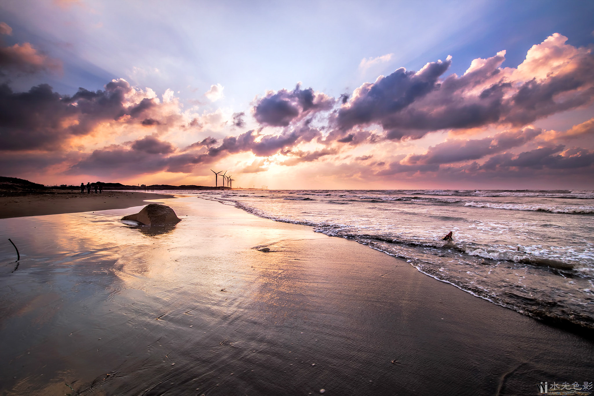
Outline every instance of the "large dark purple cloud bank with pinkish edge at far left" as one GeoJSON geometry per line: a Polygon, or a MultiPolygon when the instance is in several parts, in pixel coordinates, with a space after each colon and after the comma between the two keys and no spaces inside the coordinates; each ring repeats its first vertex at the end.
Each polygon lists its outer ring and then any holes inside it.
{"type": "Polygon", "coordinates": [[[102,123],[156,126],[176,117],[151,90],[132,88],[114,79],[105,90],[79,88],[72,95],[53,92],[48,84],[28,92],[13,92],[0,85],[0,150],[58,150],[77,136],[89,135],[102,123]],[[159,119],[161,121],[159,121],[159,119]]]}

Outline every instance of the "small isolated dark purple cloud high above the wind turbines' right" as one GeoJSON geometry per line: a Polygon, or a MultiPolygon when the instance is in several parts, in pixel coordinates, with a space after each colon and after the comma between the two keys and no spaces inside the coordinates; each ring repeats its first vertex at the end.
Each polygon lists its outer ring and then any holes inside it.
{"type": "Polygon", "coordinates": [[[267,92],[263,98],[257,98],[252,111],[254,118],[260,124],[288,126],[308,114],[330,110],[332,106],[334,106],[334,98],[316,93],[312,88],[302,90],[297,84],[293,91],[267,92]]]}

